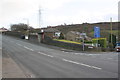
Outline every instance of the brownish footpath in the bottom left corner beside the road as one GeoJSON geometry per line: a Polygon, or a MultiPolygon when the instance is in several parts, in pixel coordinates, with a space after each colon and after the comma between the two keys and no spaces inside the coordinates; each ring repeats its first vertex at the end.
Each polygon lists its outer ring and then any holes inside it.
{"type": "Polygon", "coordinates": [[[20,67],[5,53],[2,53],[2,78],[26,78],[20,67]]]}

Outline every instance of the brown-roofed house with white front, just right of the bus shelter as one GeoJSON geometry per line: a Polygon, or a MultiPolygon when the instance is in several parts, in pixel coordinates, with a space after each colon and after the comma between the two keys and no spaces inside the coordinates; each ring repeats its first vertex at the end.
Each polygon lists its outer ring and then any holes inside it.
{"type": "Polygon", "coordinates": [[[50,38],[59,38],[60,37],[60,31],[56,28],[49,27],[49,28],[43,28],[44,35],[50,37],[50,38]]]}

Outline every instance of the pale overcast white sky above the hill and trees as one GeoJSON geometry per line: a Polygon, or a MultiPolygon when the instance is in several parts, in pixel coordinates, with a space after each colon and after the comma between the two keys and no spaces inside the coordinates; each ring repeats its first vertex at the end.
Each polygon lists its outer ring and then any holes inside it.
{"type": "Polygon", "coordinates": [[[24,23],[34,28],[118,21],[119,0],[0,0],[0,27],[24,23]],[[39,26],[39,9],[41,10],[39,26]]]}

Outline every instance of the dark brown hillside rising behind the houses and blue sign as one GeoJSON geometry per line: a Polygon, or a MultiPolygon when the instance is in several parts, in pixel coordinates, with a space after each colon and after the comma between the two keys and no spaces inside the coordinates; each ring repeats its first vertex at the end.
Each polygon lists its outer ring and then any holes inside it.
{"type": "MultiPolygon", "coordinates": [[[[113,33],[117,35],[118,33],[118,23],[112,22],[113,33]]],[[[71,24],[71,25],[58,25],[58,26],[49,26],[48,28],[56,28],[61,31],[63,34],[68,33],[69,31],[77,32],[86,32],[88,36],[93,37],[94,27],[98,26],[101,29],[101,37],[107,37],[110,33],[110,22],[99,22],[99,23],[83,23],[83,24],[71,24]]]]}

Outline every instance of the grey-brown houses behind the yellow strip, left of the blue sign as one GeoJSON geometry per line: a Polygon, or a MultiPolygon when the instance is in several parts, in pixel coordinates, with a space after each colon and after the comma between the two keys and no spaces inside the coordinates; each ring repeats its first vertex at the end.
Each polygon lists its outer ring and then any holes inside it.
{"type": "Polygon", "coordinates": [[[83,39],[85,39],[85,40],[91,40],[91,38],[89,38],[89,37],[86,35],[86,33],[80,33],[80,32],[77,32],[77,31],[69,31],[69,32],[66,34],[65,38],[66,38],[67,40],[77,41],[77,42],[79,42],[79,41],[81,41],[81,40],[83,40],[83,39]]]}

